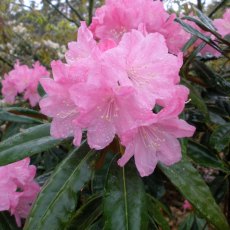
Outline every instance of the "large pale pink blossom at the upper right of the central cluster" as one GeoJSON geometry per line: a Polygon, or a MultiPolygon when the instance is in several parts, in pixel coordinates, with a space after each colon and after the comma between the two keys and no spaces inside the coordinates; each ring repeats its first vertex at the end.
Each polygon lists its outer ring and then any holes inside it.
{"type": "Polygon", "coordinates": [[[117,47],[102,54],[101,63],[104,82],[133,87],[151,110],[155,100],[171,99],[173,85],[179,81],[182,56],[168,53],[161,34],[144,36],[133,30],[123,35],[117,47]]]}

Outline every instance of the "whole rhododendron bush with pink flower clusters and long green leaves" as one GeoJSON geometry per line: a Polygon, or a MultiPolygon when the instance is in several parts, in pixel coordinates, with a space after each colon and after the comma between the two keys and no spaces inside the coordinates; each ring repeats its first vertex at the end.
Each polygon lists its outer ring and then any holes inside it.
{"type": "Polygon", "coordinates": [[[2,76],[0,227],[229,229],[230,11],[66,4],[65,59],[2,76]]]}

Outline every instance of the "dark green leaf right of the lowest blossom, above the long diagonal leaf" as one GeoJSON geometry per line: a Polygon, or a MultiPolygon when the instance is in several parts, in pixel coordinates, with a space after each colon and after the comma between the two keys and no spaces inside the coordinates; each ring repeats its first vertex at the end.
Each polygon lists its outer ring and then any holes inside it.
{"type": "Polygon", "coordinates": [[[198,165],[216,168],[224,172],[228,171],[223,162],[219,160],[214,153],[206,146],[198,144],[195,141],[189,141],[187,155],[198,165]]]}

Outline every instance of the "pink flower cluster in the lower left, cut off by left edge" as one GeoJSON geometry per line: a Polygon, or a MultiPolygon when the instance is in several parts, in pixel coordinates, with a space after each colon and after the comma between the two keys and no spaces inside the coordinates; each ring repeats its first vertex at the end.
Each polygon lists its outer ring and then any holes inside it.
{"type": "Polygon", "coordinates": [[[18,226],[21,218],[29,214],[31,204],[40,191],[34,181],[36,167],[29,165],[30,159],[0,166],[0,211],[9,211],[15,216],[18,226]]]}

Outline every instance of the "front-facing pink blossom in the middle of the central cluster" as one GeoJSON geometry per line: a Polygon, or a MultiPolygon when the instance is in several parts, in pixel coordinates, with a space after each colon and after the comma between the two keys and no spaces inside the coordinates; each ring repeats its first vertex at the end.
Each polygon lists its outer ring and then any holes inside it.
{"type": "Polygon", "coordinates": [[[151,116],[151,111],[138,103],[132,87],[79,84],[73,86],[70,92],[81,110],[75,124],[87,128],[87,140],[91,148],[105,148],[115,134],[134,128],[151,116]]]}

